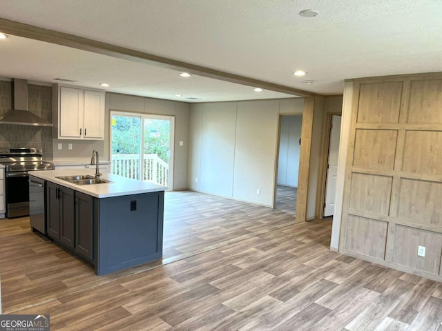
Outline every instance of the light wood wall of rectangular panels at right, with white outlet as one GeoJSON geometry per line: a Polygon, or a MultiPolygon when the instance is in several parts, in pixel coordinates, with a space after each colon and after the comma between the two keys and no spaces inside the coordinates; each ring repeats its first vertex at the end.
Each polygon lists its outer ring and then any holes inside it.
{"type": "Polygon", "coordinates": [[[442,74],[355,80],[350,132],[340,252],[441,281],[442,74]]]}

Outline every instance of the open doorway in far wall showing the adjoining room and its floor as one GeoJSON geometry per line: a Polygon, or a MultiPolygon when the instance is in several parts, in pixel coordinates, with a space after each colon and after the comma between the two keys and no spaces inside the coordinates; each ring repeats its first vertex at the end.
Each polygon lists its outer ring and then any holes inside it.
{"type": "Polygon", "coordinates": [[[296,216],[302,115],[280,115],[276,209],[296,216]]]}

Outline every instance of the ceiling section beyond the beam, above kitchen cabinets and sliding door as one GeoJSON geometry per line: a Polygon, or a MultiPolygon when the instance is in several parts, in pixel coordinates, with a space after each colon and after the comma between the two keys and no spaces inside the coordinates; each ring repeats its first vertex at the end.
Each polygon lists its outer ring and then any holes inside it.
{"type": "Polygon", "coordinates": [[[0,76],[4,78],[64,83],[159,99],[209,102],[294,97],[269,90],[257,93],[249,86],[206,77],[182,78],[175,70],[15,36],[0,41],[0,63],[0,76]],[[100,83],[110,86],[103,88],[100,83]]]}

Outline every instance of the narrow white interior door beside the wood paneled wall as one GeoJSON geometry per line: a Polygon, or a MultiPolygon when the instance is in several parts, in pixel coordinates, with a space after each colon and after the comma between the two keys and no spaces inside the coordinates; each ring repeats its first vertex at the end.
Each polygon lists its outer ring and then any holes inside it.
{"type": "Polygon", "coordinates": [[[336,176],[338,174],[338,152],[340,137],[340,115],[332,116],[332,129],[330,130],[329,154],[327,162],[327,181],[325,183],[324,217],[334,214],[336,199],[336,176]]]}

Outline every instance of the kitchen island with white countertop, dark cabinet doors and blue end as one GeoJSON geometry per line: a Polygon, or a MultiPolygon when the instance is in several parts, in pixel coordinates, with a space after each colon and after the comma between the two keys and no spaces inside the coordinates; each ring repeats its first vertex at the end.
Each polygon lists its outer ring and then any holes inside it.
{"type": "Polygon", "coordinates": [[[57,177],[94,176],[92,169],[45,170],[46,233],[97,275],[162,257],[165,188],[115,174],[110,181],[77,185],[57,177]]]}

